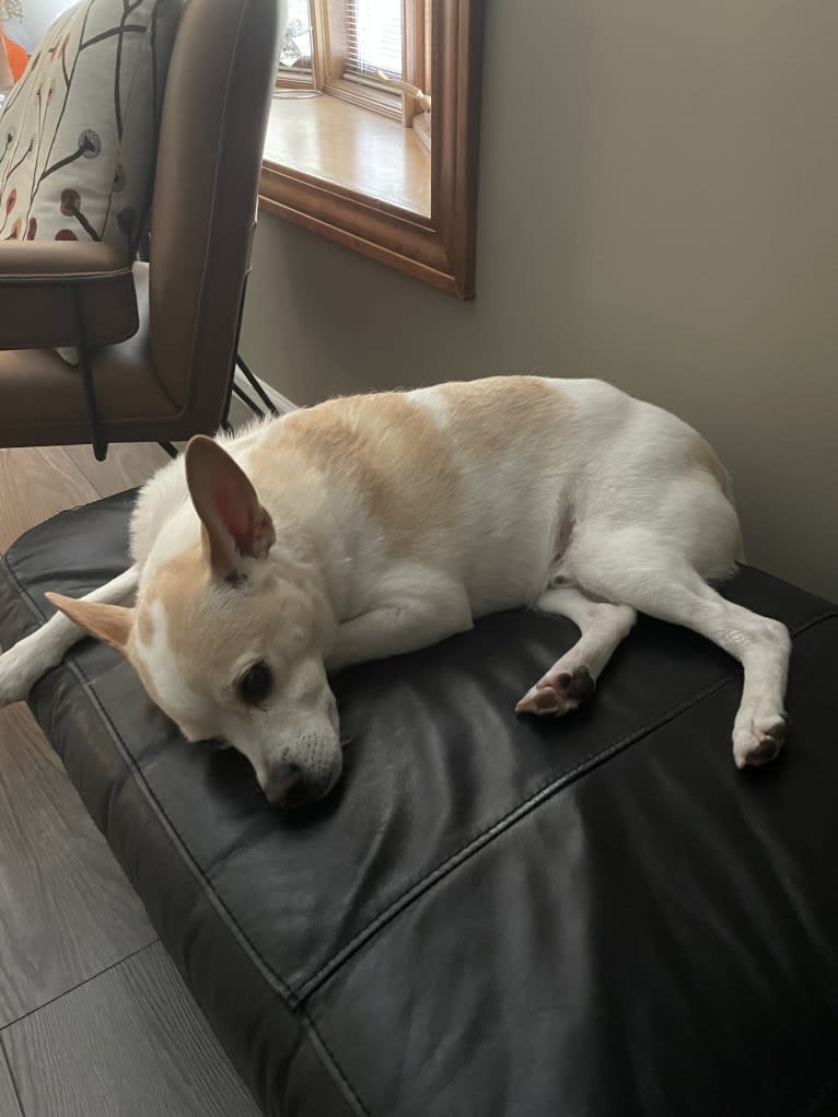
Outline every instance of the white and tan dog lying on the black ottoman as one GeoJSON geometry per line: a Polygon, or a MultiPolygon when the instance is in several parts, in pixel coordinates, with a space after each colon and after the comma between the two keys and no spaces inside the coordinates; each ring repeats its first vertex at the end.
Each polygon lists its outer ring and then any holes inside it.
{"type": "Polygon", "coordinates": [[[85,629],[190,741],[238,748],[285,805],[341,773],[327,670],[522,605],[581,636],[518,712],[574,709],[640,610],[742,662],[740,767],[785,736],[785,628],[707,584],[740,555],[727,474],[679,419],[599,381],[450,383],[199,436],[143,488],[132,554],[82,601],[47,594],[66,615],[0,658],[0,704],[85,629]]]}

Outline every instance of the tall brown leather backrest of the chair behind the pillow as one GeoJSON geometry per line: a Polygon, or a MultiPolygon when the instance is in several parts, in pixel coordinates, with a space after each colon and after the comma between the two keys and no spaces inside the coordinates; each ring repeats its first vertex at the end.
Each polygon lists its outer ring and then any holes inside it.
{"type": "Polygon", "coordinates": [[[178,403],[221,418],[276,73],[277,0],[190,0],[163,101],[151,216],[151,355],[178,403]]]}

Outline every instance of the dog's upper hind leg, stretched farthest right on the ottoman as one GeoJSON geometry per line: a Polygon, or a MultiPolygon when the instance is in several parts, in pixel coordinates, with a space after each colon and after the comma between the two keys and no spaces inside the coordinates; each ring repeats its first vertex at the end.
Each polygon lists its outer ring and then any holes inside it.
{"type": "Polygon", "coordinates": [[[783,709],[791,641],[784,624],[726,601],[669,541],[642,528],[579,541],[573,577],[597,596],[683,624],[737,659],[744,670],[733,726],[737,767],[773,760],[785,742],[783,709]]]}

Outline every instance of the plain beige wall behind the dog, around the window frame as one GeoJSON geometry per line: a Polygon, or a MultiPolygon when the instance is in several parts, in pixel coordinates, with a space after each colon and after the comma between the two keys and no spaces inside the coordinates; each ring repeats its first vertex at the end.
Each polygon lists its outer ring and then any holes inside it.
{"type": "Polygon", "coordinates": [[[602,376],[715,443],[752,562],[838,600],[836,45],[836,0],[492,0],[476,300],[265,216],[245,356],[297,402],[602,376]]]}

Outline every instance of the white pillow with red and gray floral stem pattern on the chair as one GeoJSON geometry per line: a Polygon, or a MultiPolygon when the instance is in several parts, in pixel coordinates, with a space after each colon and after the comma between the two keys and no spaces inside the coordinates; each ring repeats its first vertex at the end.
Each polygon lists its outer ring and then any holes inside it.
{"type": "Polygon", "coordinates": [[[82,0],[0,113],[0,239],[104,240],[133,260],[181,0],[82,0]]]}

